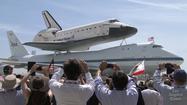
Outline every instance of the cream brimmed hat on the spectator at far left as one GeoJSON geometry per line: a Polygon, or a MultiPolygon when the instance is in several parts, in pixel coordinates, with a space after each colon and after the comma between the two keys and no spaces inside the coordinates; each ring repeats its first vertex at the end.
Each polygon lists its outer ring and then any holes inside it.
{"type": "Polygon", "coordinates": [[[20,80],[16,78],[15,75],[10,74],[4,77],[4,81],[2,82],[3,89],[14,89],[20,84],[20,80]]]}

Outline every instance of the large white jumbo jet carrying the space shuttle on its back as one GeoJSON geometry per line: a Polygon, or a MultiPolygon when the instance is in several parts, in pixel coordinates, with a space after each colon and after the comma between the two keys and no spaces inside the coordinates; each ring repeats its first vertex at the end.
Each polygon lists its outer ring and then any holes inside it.
{"type": "Polygon", "coordinates": [[[118,64],[122,70],[129,73],[134,65],[145,61],[145,72],[153,73],[160,63],[182,64],[183,58],[172,54],[157,44],[129,44],[107,48],[98,51],[68,52],[59,54],[30,55],[13,32],[8,32],[12,56],[1,59],[3,63],[16,66],[27,64],[28,61],[49,64],[54,58],[55,64],[63,64],[70,58],[85,60],[89,67],[97,68],[101,61],[118,64]]]}

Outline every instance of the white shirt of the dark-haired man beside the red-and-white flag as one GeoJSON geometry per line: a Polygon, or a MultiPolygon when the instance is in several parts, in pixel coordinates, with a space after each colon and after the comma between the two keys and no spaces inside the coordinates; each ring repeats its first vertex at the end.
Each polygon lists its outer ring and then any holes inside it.
{"type": "Polygon", "coordinates": [[[102,105],[137,105],[138,91],[133,81],[129,81],[127,89],[110,90],[106,87],[100,76],[95,80],[96,96],[102,105]]]}

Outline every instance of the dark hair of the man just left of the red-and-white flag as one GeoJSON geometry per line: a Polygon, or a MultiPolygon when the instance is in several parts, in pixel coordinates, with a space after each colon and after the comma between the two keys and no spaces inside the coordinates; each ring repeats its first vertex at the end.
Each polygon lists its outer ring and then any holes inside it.
{"type": "Polygon", "coordinates": [[[128,84],[128,77],[122,71],[116,71],[112,75],[112,83],[116,90],[124,90],[128,84]]]}

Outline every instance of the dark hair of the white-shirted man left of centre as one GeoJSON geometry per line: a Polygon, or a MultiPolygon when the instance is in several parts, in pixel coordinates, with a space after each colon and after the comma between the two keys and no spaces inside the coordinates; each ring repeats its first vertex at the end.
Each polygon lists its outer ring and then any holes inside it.
{"type": "Polygon", "coordinates": [[[78,60],[69,59],[64,62],[64,74],[69,80],[77,80],[81,74],[81,66],[78,60]]]}

